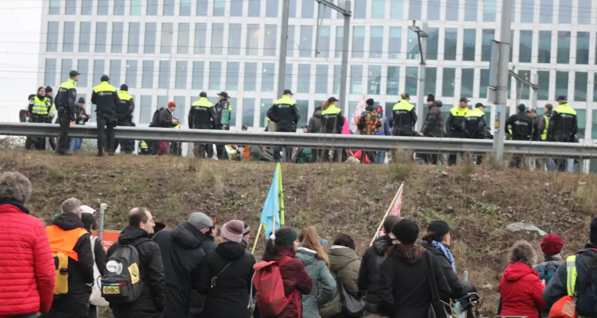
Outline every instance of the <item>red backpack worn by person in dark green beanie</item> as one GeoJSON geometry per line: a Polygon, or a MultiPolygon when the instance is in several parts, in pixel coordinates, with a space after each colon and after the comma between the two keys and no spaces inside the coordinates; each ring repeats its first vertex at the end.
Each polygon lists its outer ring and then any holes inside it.
{"type": "Polygon", "coordinates": [[[284,283],[282,282],[280,267],[290,260],[292,258],[286,256],[279,262],[260,261],[253,266],[255,273],[253,274],[251,294],[253,294],[253,286],[255,286],[255,297],[261,316],[279,316],[294,298],[297,304],[298,317],[302,317],[301,296],[298,295],[298,291],[295,289],[290,297],[286,297],[284,294],[284,283]]]}

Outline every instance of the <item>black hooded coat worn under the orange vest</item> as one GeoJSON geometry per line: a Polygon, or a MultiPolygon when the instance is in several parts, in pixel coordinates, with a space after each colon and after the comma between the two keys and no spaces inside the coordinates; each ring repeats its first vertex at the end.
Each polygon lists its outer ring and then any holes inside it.
{"type": "MultiPolygon", "coordinates": [[[[54,218],[54,225],[63,230],[83,229],[83,222],[75,213],[61,213],[54,218]]],[[[69,258],[69,292],[60,298],[54,298],[49,313],[42,318],[79,318],[89,314],[89,297],[93,284],[93,252],[90,235],[82,235],[73,248],[78,254],[78,261],[69,258]]]]}

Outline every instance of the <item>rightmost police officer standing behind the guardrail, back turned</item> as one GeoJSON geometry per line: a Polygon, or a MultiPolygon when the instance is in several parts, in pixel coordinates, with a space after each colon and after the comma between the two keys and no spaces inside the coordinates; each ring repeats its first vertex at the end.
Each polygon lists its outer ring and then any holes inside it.
{"type": "MultiPolygon", "coordinates": [[[[549,119],[549,128],[547,129],[547,141],[555,142],[575,142],[578,132],[578,121],[576,110],[568,105],[566,96],[558,97],[558,107],[556,107],[549,119]]],[[[556,160],[559,171],[566,170],[566,159],[556,160]]]]}

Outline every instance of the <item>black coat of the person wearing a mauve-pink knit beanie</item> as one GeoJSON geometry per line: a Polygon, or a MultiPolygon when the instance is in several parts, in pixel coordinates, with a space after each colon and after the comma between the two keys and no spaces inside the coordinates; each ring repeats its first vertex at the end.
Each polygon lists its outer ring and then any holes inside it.
{"type": "Polygon", "coordinates": [[[199,292],[206,295],[201,318],[250,317],[247,306],[254,264],[255,258],[242,243],[223,242],[207,253],[199,265],[199,292]]]}

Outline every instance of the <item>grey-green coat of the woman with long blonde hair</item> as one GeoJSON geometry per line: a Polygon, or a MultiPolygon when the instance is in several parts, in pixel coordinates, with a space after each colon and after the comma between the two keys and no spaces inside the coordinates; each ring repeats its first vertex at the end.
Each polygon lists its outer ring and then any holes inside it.
{"type": "Polygon", "coordinates": [[[325,261],[317,257],[317,252],[299,247],[296,257],[303,261],[304,268],[313,279],[311,293],[303,295],[303,318],[319,318],[319,308],[324,307],[334,297],[336,280],[325,265],[325,261]]]}

